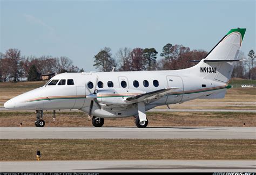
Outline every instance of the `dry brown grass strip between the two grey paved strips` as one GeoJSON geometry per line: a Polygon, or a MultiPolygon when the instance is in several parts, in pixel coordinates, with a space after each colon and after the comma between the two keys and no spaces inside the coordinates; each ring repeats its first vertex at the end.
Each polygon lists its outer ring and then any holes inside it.
{"type": "Polygon", "coordinates": [[[0,161],[256,159],[253,139],[1,139],[0,161]]]}

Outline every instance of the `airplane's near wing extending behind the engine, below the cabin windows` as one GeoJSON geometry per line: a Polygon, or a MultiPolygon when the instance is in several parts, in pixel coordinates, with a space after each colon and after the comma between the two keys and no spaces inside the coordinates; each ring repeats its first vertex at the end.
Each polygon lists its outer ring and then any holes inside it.
{"type": "Polygon", "coordinates": [[[129,102],[132,102],[132,103],[139,103],[139,102],[150,103],[152,101],[160,99],[161,97],[163,97],[166,94],[169,94],[169,93],[173,92],[174,89],[179,89],[179,88],[169,87],[169,88],[164,88],[164,89],[160,89],[160,90],[155,90],[153,92],[128,97],[126,99],[126,101],[129,101],[129,102]]]}

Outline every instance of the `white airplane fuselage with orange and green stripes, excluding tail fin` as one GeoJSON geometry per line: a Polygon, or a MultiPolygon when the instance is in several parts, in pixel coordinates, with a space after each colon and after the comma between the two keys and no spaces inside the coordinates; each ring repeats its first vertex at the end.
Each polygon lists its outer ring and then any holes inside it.
{"type": "Polygon", "coordinates": [[[178,71],[138,71],[138,72],[95,72],[95,73],[63,73],[58,74],[52,80],[73,80],[74,85],[43,86],[24,93],[5,103],[9,109],[31,110],[56,110],[79,109],[89,113],[91,100],[86,96],[92,94],[97,88],[102,90],[97,100],[102,104],[101,108],[93,106],[92,115],[99,117],[127,117],[138,115],[137,105],[125,102],[127,97],[153,92],[167,87],[176,87],[172,93],[160,97],[160,99],[145,103],[145,109],[149,110],[164,104],[181,103],[198,98],[210,98],[214,94],[225,94],[227,83],[208,80],[188,74],[189,69],[178,71]],[[108,86],[108,82],[113,87],[108,86]],[[122,81],[126,87],[122,87],[122,81]],[[134,82],[136,81],[136,82],[134,82]],[[147,83],[148,82],[148,86],[147,83]],[[157,82],[158,83],[157,83],[157,82]],[[91,82],[93,88],[88,88],[91,82]],[[102,82],[99,88],[96,83],[102,82]],[[153,83],[154,82],[154,83],[153,83]],[[157,86],[158,84],[158,86],[157,86]],[[96,87],[95,87],[96,86],[96,87]],[[105,93],[104,93],[105,92],[105,93]]]}

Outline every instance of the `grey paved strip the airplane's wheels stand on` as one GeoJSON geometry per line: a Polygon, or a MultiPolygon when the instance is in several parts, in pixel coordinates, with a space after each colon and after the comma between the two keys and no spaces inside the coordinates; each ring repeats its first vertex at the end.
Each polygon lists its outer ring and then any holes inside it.
{"type": "Polygon", "coordinates": [[[37,128],[1,127],[0,139],[255,139],[256,127],[37,128]]]}

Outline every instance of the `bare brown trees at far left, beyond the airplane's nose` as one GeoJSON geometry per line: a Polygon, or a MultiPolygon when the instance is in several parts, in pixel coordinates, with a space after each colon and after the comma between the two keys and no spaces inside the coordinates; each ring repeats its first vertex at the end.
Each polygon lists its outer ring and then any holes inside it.
{"type": "Polygon", "coordinates": [[[4,54],[0,54],[0,82],[18,81],[21,78],[37,81],[42,74],[83,71],[74,66],[68,57],[26,57],[22,56],[17,48],[10,48],[4,54]]]}

